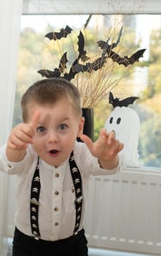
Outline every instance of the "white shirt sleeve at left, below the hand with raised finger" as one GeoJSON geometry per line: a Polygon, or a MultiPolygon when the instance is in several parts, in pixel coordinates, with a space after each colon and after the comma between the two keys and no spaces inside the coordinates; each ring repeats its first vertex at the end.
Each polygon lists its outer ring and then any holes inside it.
{"type": "Polygon", "coordinates": [[[33,159],[31,159],[31,148],[28,148],[25,157],[23,158],[22,161],[20,162],[11,162],[7,159],[6,155],[6,147],[7,145],[5,144],[4,146],[1,146],[0,148],[0,171],[7,173],[7,174],[21,174],[24,173],[25,170],[29,170],[33,159]]]}

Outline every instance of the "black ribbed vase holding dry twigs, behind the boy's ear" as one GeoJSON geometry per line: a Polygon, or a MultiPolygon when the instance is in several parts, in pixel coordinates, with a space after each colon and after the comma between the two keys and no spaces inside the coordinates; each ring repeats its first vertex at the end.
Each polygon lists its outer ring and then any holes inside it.
{"type": "MultiPolygon", "coordinates": [[[[94,139],[94,110],[93,108],[82,108],[82,116],[85,117],[85,125],[83,129],[83,134],[94,139]]],[[[77,141],[82,141],[77,138],[77,141]]]]}

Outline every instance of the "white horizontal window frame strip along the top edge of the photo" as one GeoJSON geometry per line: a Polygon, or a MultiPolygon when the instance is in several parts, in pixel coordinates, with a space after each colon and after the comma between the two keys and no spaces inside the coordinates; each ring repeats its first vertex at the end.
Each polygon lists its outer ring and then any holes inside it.
{"type": "Polygon", "coordinates": [[[23,14],[160,14],[160,0],[23,0],[23,14]]]}

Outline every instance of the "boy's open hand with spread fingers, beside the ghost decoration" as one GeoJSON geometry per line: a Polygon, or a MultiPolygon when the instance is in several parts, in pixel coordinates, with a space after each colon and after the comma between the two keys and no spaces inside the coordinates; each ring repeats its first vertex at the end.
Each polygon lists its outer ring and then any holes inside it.
{"type": "Polygon", "coordinates": [[[81,140],[86,143],[91,154],[98,158],[101,167],[112,169],[117,166],[118,153],[122,150],[123,144],[116,140],[114,131],[107,133],[106,129],[101,129],[98,140],[94,143],[87,135],[81,135],[81,140]]]}

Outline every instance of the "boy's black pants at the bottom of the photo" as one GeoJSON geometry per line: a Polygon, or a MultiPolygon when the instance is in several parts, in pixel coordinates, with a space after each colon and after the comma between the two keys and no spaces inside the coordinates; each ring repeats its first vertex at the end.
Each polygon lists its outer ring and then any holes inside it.
{"type": "Polygon", "coordinates": [[[15,228],[12,256],[87,256],[85,230],[58,241],[36,240],[15,228]]]}

